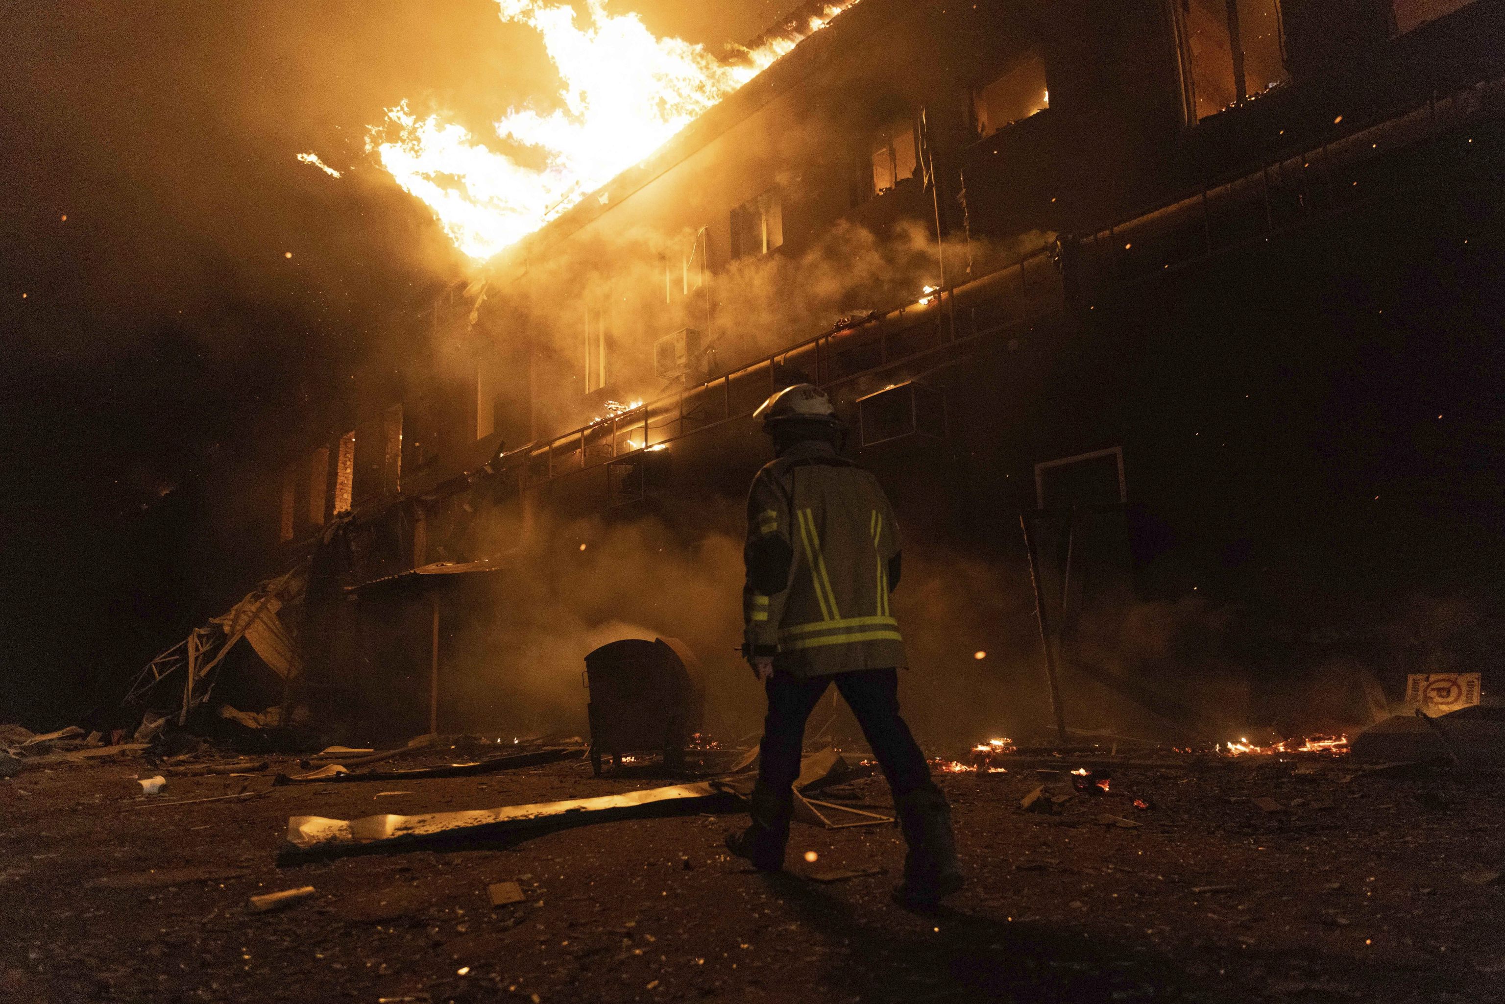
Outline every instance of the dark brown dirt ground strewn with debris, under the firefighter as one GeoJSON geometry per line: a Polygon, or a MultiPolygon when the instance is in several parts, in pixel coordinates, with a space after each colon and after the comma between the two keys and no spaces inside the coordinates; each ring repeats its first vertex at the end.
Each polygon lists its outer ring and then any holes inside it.
{"type": "MultiPolygon", "coordinates": [[[[892,826],[796,823],[790,870],[766,876],[724,852],[745,819],[730,813],[278,861],[289,816],[671,783],[581,762],[405,784],[173,777],[154,799],[132,780],[155,772],[141,759],[30,771],[0,781],[0,999],[1505,999],[1505,778],[1186,759],[1114,765],[1109,793],[1058,814],[1020,808],[1041,783],[1069,787],[1070,766],[942,777],[968,887],[935,915],[888,899],[892,826]],[[164,804],[242,787],[265,793],[164,804]],[[865,866],[885,872],[802,878],[865,866]],[[525,902],[492,908],[501,881],[525,902]],[[281,912],[247,908],[303,885],[315,896],[281,912]]],[[[888,804],[882,780],[841,796],[888,804]]]]}

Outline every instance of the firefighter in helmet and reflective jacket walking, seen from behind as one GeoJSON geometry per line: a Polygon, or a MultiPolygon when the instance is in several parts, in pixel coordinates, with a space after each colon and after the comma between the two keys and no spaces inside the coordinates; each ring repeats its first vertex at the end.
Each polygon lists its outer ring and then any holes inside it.
{"type": "Polygon", "coordinates": [[[877,479],[838,450],[846,427],[825,391],[795,384],[754,412],[775,458],[748,495],[743,655],[768,691],[752,825],[727,847],[756,867],[784,866],[805,720],[835,683],[894,792],[909,844],[894,899],[933,906],[962,887],[951,810],[898,716],[905,643],[889,607],[898,525],[877,479]]]}

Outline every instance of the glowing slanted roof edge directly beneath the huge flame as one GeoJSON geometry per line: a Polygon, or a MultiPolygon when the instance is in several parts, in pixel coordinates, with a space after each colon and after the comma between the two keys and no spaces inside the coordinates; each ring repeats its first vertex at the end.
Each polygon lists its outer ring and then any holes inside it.
{"type": "MultiPolygon", "coordinates": [[[[909,0],[912,2],[912,0],[909,0]]],[[[790,30],[801,18],[820,14],[831,0],[807,0],[772,27],[748,44],[756,48],[790,30]]],[[[491,263],[522,262],[569,239],[588,224],[611,212],[650,182],[688,160],[712,140],[746,120],[780,95],[792,90],[810,77],[822,62],[822,56],[840,45],[856,42],[882,27],[889,9],[906,6],[906,0],[853,0],[852,6],[834,17],[822,30],[805,38],[784,57],[775,60],[762,74],[749,80],[719,104],[706,110],[698,119],[676,132],[664,146],[649,154],[643,161],[626,169],[610,182],[596,188],[573,208],[560,214],[539,230],[492,256],[491,263]]]]}

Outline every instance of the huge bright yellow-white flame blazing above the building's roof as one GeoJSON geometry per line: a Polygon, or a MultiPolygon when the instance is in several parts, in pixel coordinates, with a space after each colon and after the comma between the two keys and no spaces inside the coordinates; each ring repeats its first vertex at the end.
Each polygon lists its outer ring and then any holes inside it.
{"type": "Polygon", "coordinates": [[[504,21],[542,36],[564,84],[561,108],[515,108],[494,125],[503,146],[528,151],[528,163],[485,146],[442,114],[420,117],[406,102],[387,110],[367,148],[429,205],[462,251],[485,260],[644,160],[856,2],[831,0],[722,60],[700,45],[655,38],[635,14],[607,14],[604,0],[585,0],[584,24],[569,3],[497,0],[504,21]]]}

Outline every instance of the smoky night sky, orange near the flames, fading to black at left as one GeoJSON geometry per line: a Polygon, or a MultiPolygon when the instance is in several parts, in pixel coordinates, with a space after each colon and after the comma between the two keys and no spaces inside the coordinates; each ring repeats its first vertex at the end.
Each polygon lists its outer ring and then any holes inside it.
{"type": "MultiPolygon", "coordinates": [[[[719,47],[790,6],[608,9],[719,47]]],[[[272,438],[461,275],[364,154],[366,126],[408,99],[477,132],[546,102],[551,77],[492,0],[8,5],[0,721],[66,724],[175,641],[163,626],[202,611],[143,584],[140,521],[212,491],[221,458],[272,438]]]]}

